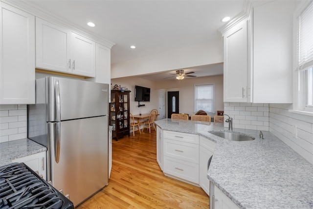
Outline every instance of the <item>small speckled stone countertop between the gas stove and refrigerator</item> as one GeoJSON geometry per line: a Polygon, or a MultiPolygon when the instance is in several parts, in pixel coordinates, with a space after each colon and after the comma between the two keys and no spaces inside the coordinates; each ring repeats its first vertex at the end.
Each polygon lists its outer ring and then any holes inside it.
{"type": "Polygon", "coordinates": [[[45,152],[46,147],[30,139],[18,139],[0,143],[0,166],[28,155],[45,152]]]}

